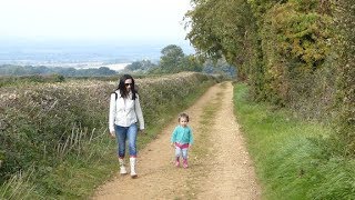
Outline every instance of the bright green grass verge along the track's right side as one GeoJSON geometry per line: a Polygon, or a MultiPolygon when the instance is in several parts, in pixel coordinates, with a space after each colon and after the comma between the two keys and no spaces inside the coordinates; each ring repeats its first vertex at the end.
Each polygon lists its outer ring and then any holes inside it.
{"type": "Polygon", "coordinates": [[[234,104],[265,199],[354,199],[355,160],[337,153],[331,128],[248,101],[245,84],[234,104]]]}

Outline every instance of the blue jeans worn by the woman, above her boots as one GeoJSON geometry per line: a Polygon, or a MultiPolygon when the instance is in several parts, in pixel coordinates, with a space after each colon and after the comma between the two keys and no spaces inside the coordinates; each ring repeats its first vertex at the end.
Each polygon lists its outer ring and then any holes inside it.
{"type": "Polygon", "coordinates": [[[124,158],[126,139],[129,141],[130,157],[136,157],[136,123],[133,123],[130,127],[115,126],[115,138],[119,143],[118,154],[120,158],[124,158]]]}

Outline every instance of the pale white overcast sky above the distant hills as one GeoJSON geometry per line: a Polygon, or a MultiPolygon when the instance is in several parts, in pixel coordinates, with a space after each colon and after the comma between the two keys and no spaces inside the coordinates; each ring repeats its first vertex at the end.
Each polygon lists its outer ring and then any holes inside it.
{"type": "Polygon", "coordinates": [[[190,0],[1,0],[0,39],[184,40],[190,0]]]}

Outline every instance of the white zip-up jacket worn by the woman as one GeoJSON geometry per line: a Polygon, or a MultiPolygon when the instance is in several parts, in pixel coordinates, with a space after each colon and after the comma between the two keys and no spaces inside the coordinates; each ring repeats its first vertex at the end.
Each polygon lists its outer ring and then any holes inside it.
{"type": "Polygon", "coordinates": [[[111,93],[110,98],[110,132],[114,132],[114,124],[120,127],[130,127],[136,122],[140,124],[140,130],[143,130],[144,119],[138,93],[135,93],[135,100],[132,100],[132,92],[130,92],[126,99],[121,97],[119,90],[116,90],[115,93],[118,99],[115,99],[114,93],[111,93]]]}

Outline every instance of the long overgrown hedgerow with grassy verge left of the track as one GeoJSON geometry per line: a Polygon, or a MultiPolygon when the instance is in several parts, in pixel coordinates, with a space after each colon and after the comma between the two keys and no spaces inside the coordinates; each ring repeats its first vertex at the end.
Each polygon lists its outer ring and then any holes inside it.
{"type": "MultiPolygon", "coordinates": [[[[139,148],[217,81],[200,73],[136,79],[148,132],[139,148]]],[[[106,129],[115,88],[99,80],[0,88],[0,199],[87,198],[115,173],[106,129]]]]}

